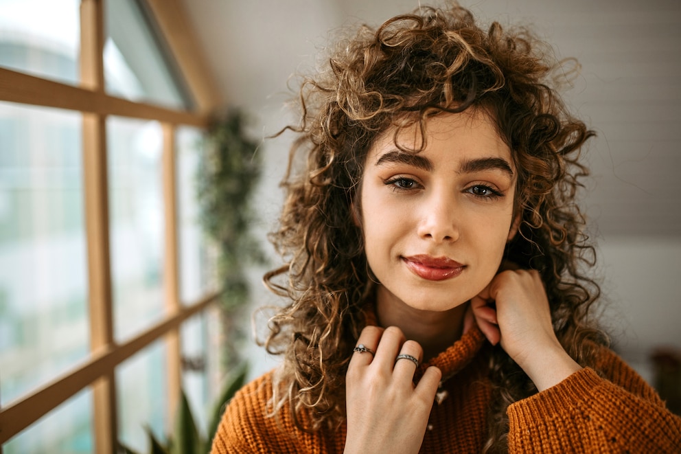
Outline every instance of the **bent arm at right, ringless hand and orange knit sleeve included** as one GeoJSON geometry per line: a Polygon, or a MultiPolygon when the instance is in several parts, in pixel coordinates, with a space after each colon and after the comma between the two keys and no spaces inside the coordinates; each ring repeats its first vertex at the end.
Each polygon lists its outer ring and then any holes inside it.
{"type": "Polygon", "coordinates": [[[509,406],[509,452],[681,452],[681,418],[621,359],[601,350],[596,367],[606,379],[568,356],[536,271],[499,273],[472,310],[540,391],[509,406]]]}

